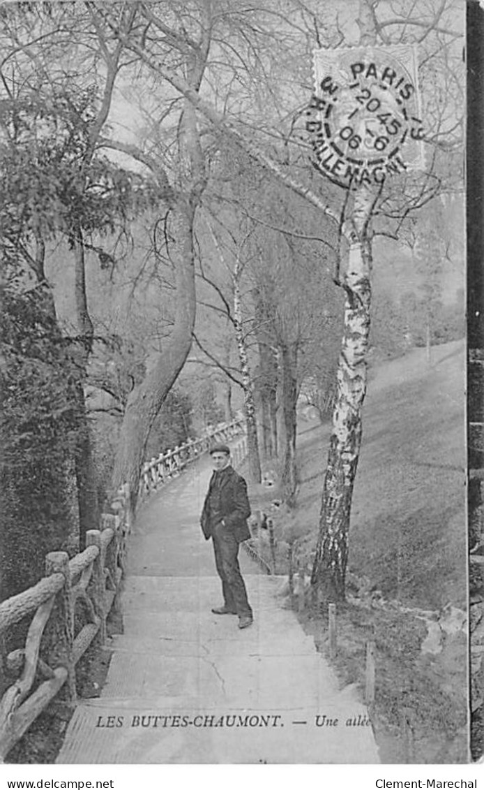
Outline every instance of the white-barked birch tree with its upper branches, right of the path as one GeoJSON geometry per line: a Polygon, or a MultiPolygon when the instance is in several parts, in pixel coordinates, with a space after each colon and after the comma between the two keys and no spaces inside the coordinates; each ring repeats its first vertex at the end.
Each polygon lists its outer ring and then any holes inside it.
{"type": "MultiPolygon", "coordinates": [[[[386,29],[394,24],[423,28],[419,41],[423,41],[432,29],[440,24],[440,12],[428,21],[402,17],[397,20],[378,21],[376,9],[378,2],[361,0],[359,3],[358,24],[360,29],[359,46],[374,46],[378,40],[389,43],[391,40],[386,29]]],[[[431,10],[431,9],[430,9],[431,10]]],[[[400,40],[405,36],[401,32],[400,40]]],[[[449,33],[451,29],[440,28],[439,32],[449,33]]],[[[430,109],[433,107],[430,101],[430,109]]],[[[458,108],[451,108],[455,113],[458,108]]],[[[448,107],[445,108],[448,111],[448,107]]],[[[430,115],[430,113],[429,113],[430,115]]],[[[444,122],[439,118],[437,127],[431,130],[432,141],[444,135],[449,137],[456,124],[444,122]]],[[[375,143],[376,145],[376,143],[375,143]]],[[[391,179],[380,184],[363,182],[348,195],[351,217],[342,225],[341,233],[348,245],[348,263],[345,272],[337,273],[337,284],[345,293],[344,337],[337,370],[337,394],[333,409],[333,431],[329,443],[329,455],[323,484],[322,508],[320,515],[318,544],[312,571],[312,584],[324,600],[341,600],[344,597],[345,571],[348,562],[348,530],[352,504],[352,491],[359,461],[362,440],[361,408],[367,392],[367,349],[370,337],[371,271],[373,266],[374,221],[378,210],[385,211],[385,204],[395,200],[399,204],[396,216],[403,221],[408,214],[419,210],[427,201],[438,194],[441,186],[439,175],[433,167],[417,177],[413,197],[408,192],[399,193],[391,179]],[[399,196],[400,195],[400,196],[399,196]]],[[[411,179],[404,179],[408,185],[411,179]]],[[[348,213],[346,216],[348,216],[348,213]]]]}

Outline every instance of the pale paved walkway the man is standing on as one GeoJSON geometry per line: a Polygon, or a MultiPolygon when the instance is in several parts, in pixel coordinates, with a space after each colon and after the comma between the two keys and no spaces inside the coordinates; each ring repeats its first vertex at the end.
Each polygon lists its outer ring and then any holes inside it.
{"type": "Polygon", "coordinates": [[[239,630],[236,617],[210,612],[222,596],[199,529],[209,477],[207,458],[143,506],[121,597],[125,633],[112,639],[102,696],[77,705],[57,762],[379,762],[356,690],[338,690],[281,608],[277,579],[244,551],[254,625],[239,630]]]}

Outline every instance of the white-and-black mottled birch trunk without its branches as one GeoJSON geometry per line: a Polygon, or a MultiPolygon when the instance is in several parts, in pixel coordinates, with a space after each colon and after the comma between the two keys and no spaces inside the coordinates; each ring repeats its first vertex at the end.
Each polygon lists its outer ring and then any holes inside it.
{"type": "Polygon", "coordinates": [[[318,543],[311,585],[319,600],[344,599],[352,493],[362,436],[361,408],[367,391],[367,348],[370,334],[371,242],[373,198],[360,188],[349,237],[348,269],[341,282],[346,294],[344,333],[337,368],[333,430],[322,491],[318,543]]]}

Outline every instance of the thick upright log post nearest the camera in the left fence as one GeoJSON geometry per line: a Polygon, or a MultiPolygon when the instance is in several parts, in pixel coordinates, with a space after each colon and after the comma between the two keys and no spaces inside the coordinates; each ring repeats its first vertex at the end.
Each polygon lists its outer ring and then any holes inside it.
{"type": "Polygon", "coordinates": [[[56,645],[61,656],[61,665],[67,669],[67,690],[69,700],[76,702],[76,666],[73,657],[74,608],[71,591],[71,574],[67,551],[50,551],[46,556],[46,574],[62,574],[64,586],[58,592],[58,607],[61,625],[59,643],[56,645]]]}

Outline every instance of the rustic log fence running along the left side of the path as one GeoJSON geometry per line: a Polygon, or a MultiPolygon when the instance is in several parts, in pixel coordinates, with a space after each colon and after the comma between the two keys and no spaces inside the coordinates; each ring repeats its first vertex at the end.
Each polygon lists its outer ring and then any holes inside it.
{"type": "MultiPolygon", "coordinates": [[[[240,463],[247,445],[239,419],[146,463],[140,493],[156,491],[213,442],[229,442],[237,435],[241,439],[233,456],[240,463]]],[[[106,643],[106,619],[121,584],[132,527],[127,486],[121,487],[111,510],[102,515],[100,529],[87,532],[84,551],[73,559],[65,551],[50,552],[45,577],[0,604],[0,645],[9,644],[12,634],[17,639],[23,634],[23,647],[11,650],[5,660],[11,680],[0,700],[0,762],[59,692],[75,702],[76,664],[95,639],[100,646],[106,643]]]]}

